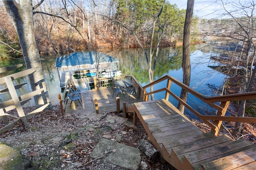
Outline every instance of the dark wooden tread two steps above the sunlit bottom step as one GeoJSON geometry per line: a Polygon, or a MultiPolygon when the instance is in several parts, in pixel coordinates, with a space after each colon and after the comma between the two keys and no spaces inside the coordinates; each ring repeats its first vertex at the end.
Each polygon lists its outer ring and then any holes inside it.
{"type": "Polygon", "coordinates": [[[232,139],[230,139],[226,135],[222,135],[218,137],[207,138],[204,140],[192,141],[191,143],[185,145],[173,147],[172,150],[175,152],[176,155],[179,155],[184,154],[186,152],[191,152],[193,150],[198,150],[205,147],[217,145],[227,141],[232,141],[232,139]]]}

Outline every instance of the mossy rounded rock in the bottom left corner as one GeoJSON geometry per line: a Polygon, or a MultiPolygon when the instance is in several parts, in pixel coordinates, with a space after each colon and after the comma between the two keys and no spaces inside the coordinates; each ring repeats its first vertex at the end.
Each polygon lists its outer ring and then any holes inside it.
{"type": "Polygon", "coordinates": [[[0,143],[0,170],[24,170],[27,164],[18,150],[0,143]]]}

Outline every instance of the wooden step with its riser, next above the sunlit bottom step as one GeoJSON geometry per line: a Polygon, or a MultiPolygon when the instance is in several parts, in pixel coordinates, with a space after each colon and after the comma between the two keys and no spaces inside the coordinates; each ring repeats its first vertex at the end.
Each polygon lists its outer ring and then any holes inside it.
{"type": "Polygon", "coordinates": [[[202,164],[216,160],[231,154],[235,154],[242,150],[255,147],[246,139],[239,139],[237,141],[227,141],[210,147],[204,147],[203,149],[193,150],[184,154],[178,155],[178,158],[182,160],[183,168],[186,169],[201,169],[202,164]]]}

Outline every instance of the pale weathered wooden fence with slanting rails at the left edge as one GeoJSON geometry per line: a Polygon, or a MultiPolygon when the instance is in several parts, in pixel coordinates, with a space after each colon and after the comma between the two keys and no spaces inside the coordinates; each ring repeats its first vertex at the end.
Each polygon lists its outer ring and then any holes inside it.
{"type": "MultiPolygon", "coordinates": [[[[15,65],[15,66],[9,66],[9,67],[3,67],[3,68],[0,68],[0,73],[11,71],[11,70],[19,68],[21,66],[22,66],[22,64],[15,65]]],[[[24,110],[22,109],[22,106],[24,104],[26,104],[27,102],[29,102],[32,99],[32,97],[40,94],[44,89],[40,88],[38,90],[29,92],[27,94],[23,94],[20,96],[18,96],[18,94],[16,92],[16,90],[26,86],[27,83],[14,85],[13,80],[27,76],[28,74],[33,74],[37,69],[38,69],[38,67],[30,68],[28,70],[24,70],[24,71],[10,74],[8,76],[0,78],[0,84],[5,83],[7,86],[7,88],[0,90],[0,94],[9,93],[12,98],[10,100],[0,103],[0,117],[2,119],[2,122],[4,124],[6,124],[6,126],[4,126],[0,129],[0,134],[12,129],[12,127],[14,127],[14,125],[16,125],[18,123],[18,121],[20,121],[20,120],[23,121],[23,123],[24,123],[24,125],[26,125],[26,127],[29,127],[27,119],[29,119],[36,113],[39,113],[40,111],[44,110],[49,105],[49,103],[44,104],[43,106],[39,107],[38,109],[35,109],[34,111],[32,111],[30,113],[25,113],[24,110]],[[10,111],[12,109],[16,109],[18,116],[10,115],[7,113],[8,111],[10,111]],[[13,117],[15,120],[12,122],[9,122],[8,117],[13,117]]]]}

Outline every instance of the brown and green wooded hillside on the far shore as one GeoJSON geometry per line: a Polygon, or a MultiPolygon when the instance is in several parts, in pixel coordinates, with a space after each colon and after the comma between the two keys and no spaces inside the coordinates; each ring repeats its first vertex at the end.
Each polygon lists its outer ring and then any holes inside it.
{"type": "MultiPolygon", "coordinates": [[[[33,10],[34,32],[40,55],[56,57],[73,51],[138,47],[127,29],[134,31],[143,45],[150,44],[153,20],[162,1],[60,1],[45,0],[33,10]],[[118,22],[122,23],[120,25],[118,22]]],[[[36,2],[33,1],[33,6],[36,2]]],[[[0,4],[0,51],[2,56],[20,56],[16,31],[0,4]]],[[[156,25],[162,31],[160,46],[182,41],[186,10],[166,2],[156,25]]],[[[197,18],[194,18],[196,31],[197,18]]],[[[156,45],[157,36],[153,41],[156,45]]]]}

